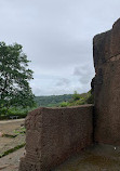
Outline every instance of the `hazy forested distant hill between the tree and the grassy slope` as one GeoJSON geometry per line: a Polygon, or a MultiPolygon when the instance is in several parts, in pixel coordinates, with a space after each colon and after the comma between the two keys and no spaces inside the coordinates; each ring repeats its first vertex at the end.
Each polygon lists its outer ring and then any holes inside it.
{"type": "Polygon", "coordinates": [[[50,95],[50,96],[36,96],[35,101],[40,107],[54,107],[59,106],[62,102],[68,102],[72,98],[72,94],[64,95],[50,95]]]}

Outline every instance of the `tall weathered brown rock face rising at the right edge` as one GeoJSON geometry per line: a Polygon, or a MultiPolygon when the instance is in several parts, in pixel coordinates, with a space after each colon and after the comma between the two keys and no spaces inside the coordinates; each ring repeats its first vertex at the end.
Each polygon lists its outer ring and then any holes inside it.
{"type": "Polygon", "coordinates": [[[95,141],[120,145],[120,19],[93,39],[95,141]]]}

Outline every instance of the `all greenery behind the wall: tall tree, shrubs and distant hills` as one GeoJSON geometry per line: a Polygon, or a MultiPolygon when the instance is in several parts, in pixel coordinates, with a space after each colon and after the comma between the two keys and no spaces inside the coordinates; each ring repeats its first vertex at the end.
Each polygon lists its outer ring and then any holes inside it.
{"type": "Polygon", "coordinates": [[[18,43],[0,42],[0,116],[23,115],[38,106],[66,107],[93,103],[91,91],[83,94],[35,96],[29,86],[34,71],[18,43]]]}

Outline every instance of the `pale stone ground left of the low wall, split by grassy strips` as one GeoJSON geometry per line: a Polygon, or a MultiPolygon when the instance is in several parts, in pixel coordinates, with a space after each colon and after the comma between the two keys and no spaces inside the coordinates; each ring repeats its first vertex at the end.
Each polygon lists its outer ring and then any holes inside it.
{"type": "MultiPolygon", "coordinates": [[[[25,134],[18,133],[22,131],[24,122],[25,119],[0,121],[0,132],[9,135],[16,135],[15,137],[0,137],[0,154],[25,143],[25,134]]],[[[0,158],[0,171],[17,171],[19,158],[24,156],[24,153],[25,149],[21,148],[0,158]]]]}

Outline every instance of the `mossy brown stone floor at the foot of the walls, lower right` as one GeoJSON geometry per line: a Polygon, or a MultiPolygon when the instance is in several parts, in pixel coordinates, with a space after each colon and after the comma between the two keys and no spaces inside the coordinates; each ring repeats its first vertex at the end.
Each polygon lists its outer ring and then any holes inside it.
{"type": "Polygon", "coordinates": [[[120,147],[95,145],[70,158],[54,171],[120,171],[120,147]]]}

